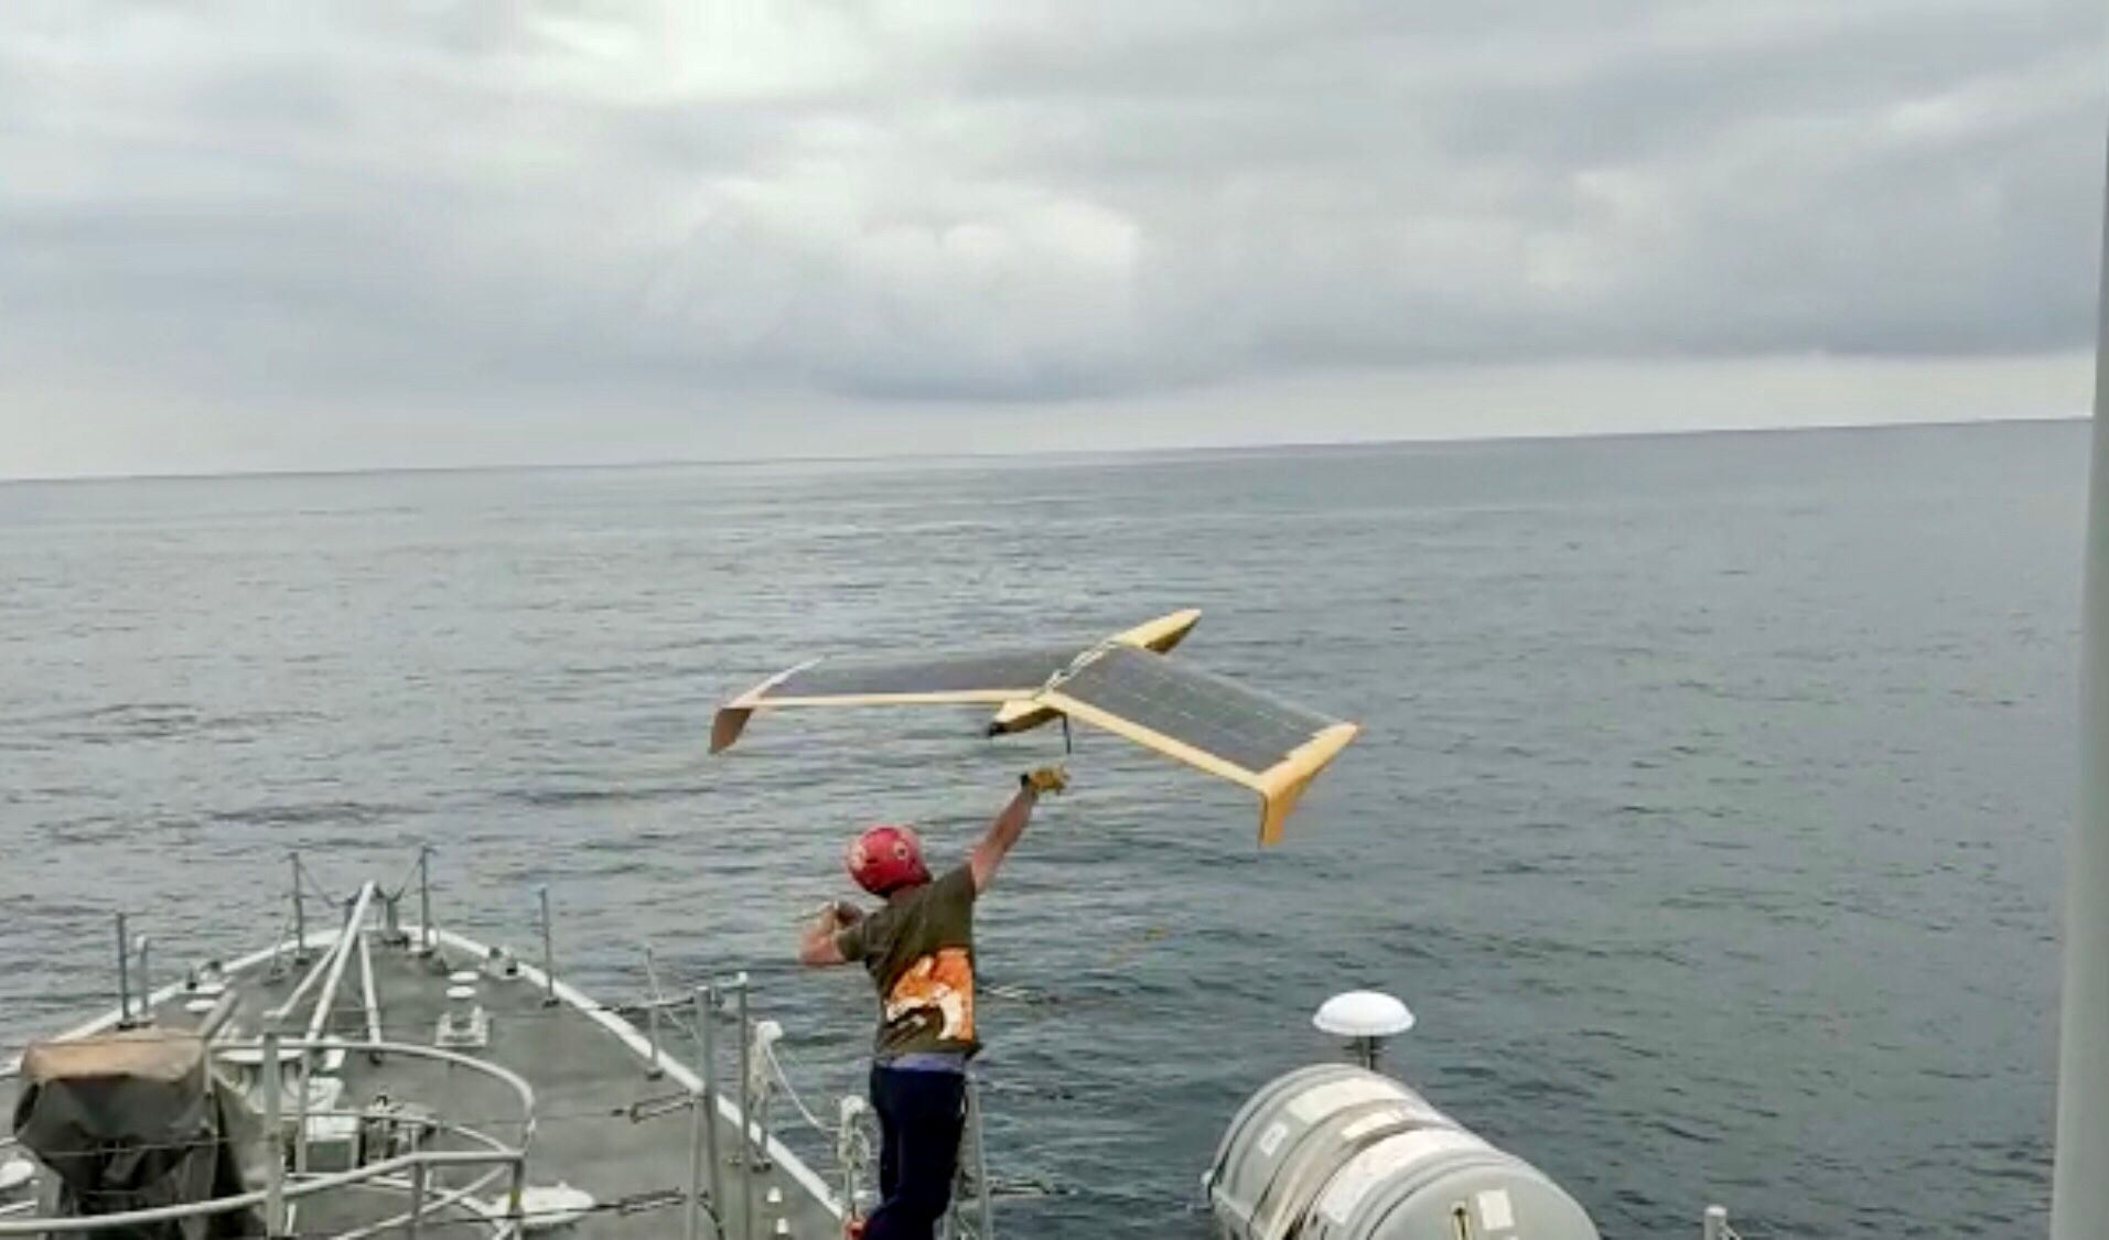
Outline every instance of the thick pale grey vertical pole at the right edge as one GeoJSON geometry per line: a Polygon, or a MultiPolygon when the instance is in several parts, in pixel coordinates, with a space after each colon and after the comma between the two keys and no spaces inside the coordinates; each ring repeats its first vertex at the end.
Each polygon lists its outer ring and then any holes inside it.
{"type": "Polygon", "coordinates": [[[2079,822],[2065,863],[2065,1004],[2058,1033],[2052,1240],[2109,1236],[2109,196],[2103,238],[2079,628],[2079,822]]]}

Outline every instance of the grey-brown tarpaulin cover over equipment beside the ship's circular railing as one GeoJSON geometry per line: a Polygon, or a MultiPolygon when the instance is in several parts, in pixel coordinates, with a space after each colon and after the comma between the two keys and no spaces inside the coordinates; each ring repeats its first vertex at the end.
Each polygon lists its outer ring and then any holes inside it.
{"type": "MultiPolygon", "coordinates": [[[[40,1042],[21,1059],[15,1137],[59,1177],[61,1217],[116,1215],[249,1191],[262,1137],[238,1090],[188,1033],[131,1029],[40,1042]]],[[[255,1210],[171,1219],[105,1240],[262,1236],[255,1210]]],[[[72,1236],[72,1234],[55,1234],[72,1236]]]]}

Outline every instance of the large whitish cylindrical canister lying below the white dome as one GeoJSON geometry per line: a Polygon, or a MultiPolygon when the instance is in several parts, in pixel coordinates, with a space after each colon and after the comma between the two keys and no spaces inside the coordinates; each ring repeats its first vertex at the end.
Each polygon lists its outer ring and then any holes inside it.
{"type": "Polygon", "coordinates": [[[1206,1177],[1234,1240],[1597,1240],[1582,1206],[1405,1084],[1346,1063],[1255,1092],[1206,1177]]]}

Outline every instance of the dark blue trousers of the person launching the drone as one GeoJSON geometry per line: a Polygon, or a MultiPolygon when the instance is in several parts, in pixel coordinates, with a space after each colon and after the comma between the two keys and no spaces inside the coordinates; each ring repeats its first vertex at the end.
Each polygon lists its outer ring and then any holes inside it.
{"type": "Polygon", "coordinates": [[[932,1240],[960,1168],[966,1076],[873,1067],[871,1109],[879,1113],[879,1208],[865,1240],[932,1240]]]}

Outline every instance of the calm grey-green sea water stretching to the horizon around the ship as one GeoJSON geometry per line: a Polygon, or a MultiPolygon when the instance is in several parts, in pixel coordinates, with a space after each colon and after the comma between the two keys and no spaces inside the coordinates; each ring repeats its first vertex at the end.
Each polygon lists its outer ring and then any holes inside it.
{"type": "MultiPolygon", "coordinates": [[[[2084,428],[1135,460],[0,487],[0,1044],[283,917],[285,854],[392,881],[607,997],[751,968],[801,1090],[869,997],[787,964],[844,833],[962,850],[1059,736],[711,706],[793,658],[1103,633],[1367,723],[1289,841],[1080,736],[983,911],[1019,1236],[1200,1236],[1234,1107],[1392,1065],[1607,1236],[2044,1223],[2084,428]],[[165,966],[167,968],[167,966],[165,966]]],[[[810,1141],[804,1147],[812,1149],[810,1141]]]]}

